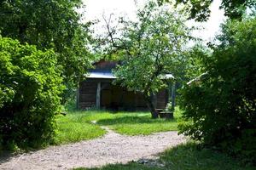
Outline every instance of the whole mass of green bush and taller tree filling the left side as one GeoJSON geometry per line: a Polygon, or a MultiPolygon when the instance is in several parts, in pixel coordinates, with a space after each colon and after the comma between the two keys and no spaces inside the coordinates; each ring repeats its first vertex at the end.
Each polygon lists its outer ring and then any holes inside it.
{"type": "Polygon", "coordinates": [[[81,7],[81,0],[0,2],[0,150],[52,138],[60,105],[90,67],[81,7]]]}

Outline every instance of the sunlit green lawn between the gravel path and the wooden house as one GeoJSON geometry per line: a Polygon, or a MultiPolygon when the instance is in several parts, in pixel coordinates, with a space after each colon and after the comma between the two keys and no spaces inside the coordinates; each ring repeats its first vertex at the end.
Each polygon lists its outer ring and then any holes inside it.
{"type": "Polygon", "coordinates": [[[57,116],[55,144],[67,144],[80,140],[95,139],[105,132],[107,126],[126,135],[148,135],[177,130],[177,119],[181,111],[174,113],[173,120],[151,119],[149,112],[69,111],[67,116],[57,116]],[[92,124],[96,121],[96,124],[92,124]]]}

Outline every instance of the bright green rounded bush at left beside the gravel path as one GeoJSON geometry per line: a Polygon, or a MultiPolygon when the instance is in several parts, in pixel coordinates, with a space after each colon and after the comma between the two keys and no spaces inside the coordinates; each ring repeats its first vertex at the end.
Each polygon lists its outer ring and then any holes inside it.
{"type": "Polygon", "coordinates": [[[63,89],[55,53],[0,37],[0,70],[0,147],[44,143],[63,89]]]}

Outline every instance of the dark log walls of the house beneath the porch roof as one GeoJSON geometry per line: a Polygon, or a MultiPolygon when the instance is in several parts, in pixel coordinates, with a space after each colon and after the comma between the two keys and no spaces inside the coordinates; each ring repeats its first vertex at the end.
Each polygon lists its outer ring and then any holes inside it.
{"type": "MultiPolygon", "coordinates": [[[[146,110],[147,105],[140,94],[112,84],[113,80],[88,78],[80,83],[79,109],[96,107],[97,84],[101,82],[100,107],[122,111],[146,110]]],[[[165,109],[168,102],[167,90],[160,91],[156,96],[156,107],[165,109]]]]}

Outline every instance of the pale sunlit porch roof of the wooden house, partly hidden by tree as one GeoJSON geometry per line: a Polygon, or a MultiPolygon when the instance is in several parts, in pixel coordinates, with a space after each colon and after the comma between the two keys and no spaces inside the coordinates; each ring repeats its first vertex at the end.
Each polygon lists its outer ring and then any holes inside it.
{"type": "MultiPolygon", "coordinates": [[[[87,78],[106,78],[106,79],[116,79],[115,76],[113,76],[112,72],[106,72],[106,71],[91,71],[87,75],[84,75],[87,78]]],[[[166,74],[162,79],[172,79],[174,78],[172,74],[166,74]]]]}

